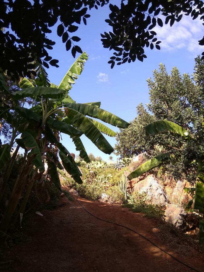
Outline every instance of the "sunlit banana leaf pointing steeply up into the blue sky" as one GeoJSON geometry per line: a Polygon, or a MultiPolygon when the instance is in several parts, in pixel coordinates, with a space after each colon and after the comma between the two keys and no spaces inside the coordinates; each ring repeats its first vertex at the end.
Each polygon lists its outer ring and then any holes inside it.
{"type": "Polygon", "coordinates": [[[88,55],[86,52],[83,52],[73,63],[70,69],[67,71],[66,75],[63,77],[59,89],[70,90],[72,88],[71,84],[75,83],[75,80],[78,78],[77,75],[80,75],[84,68],[84,63],[88,60],[88,55]]]}

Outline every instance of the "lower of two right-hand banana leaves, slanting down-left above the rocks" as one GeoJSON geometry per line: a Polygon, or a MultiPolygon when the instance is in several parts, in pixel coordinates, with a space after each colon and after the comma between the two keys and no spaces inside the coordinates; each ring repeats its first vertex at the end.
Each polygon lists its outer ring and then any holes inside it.
{"type": "Polygon", "coordinates": [[[135,169],[132,173],[128,175],[128,180],[132,180],[148,170],[156,167],[157,165],[163,163],[166,159],[170,157],[170,152],[161,154],[159,156],[154,157],[153,159],[147,160],[144,164],[135,169]]]}

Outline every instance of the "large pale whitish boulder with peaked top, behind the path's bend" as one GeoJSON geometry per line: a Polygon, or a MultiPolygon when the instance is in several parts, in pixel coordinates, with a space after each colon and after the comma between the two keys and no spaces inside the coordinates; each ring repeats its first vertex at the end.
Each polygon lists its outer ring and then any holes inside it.
{"type": "Polygon", "coordinates": [[[153,175],[147,176],[144,180],[136,183],[133,188],[133,192],[134,191],[137,191],[140,194],[146,193],[147,199],[151,200],[152,204],[167,204],[167,193],[165,192],[164,187],[158,183],[153,175]]]}

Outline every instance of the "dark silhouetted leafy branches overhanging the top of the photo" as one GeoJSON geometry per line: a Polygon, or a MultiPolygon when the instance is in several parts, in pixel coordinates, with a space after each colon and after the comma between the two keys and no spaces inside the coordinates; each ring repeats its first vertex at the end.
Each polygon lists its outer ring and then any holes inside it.
{"type": "MultiPolygon", "coordinates": [[[[9,76],[18,78],[35,74],[34,60],[45,67],[58,67],[58,60],[50,56],[55,41],[47,35],[57,25],[57,35],[62,37],[66,50],[71,50],[73,57],[82,53],[76,45],[80,37],[73,34],[81,21],[86,25],[87,13],[92,8],[98,9],[110,0],[0,0],[0,67],[9,76]]],[[[102,44],[114,50],[108,63],[111,68],[117,63],[143,61],[146,58],[144,47],[160,49],[160,41],[152,29],[179,22],[183,15],[193,19],[200,16],[204,20],[203,2],[200,0],[181,1],[118,1],[121,5],[109,5],[109,19],[105,21],[112,27],[112,32],[104,32],[102,44]],[[164,18],[164,19],[163,19],[164,18]]],[[[199,41],[204,44],[204,37],[199,41]]],[[[204,53],[202,53],[204,58],[204,53]]]]}

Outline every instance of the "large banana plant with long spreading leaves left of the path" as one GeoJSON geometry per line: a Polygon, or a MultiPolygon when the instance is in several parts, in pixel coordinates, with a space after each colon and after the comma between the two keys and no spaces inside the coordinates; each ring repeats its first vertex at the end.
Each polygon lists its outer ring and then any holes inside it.
{"type": "MultiPolygon", "coordinates": [[[[27,154],[0,223],[2,231],[6,231],[8,228],[14,212],[17,215],[19,212],[24,212],[32,185],[37,177],[42,177],[44,172],[44,161],[48,165],[50,180],[58,189],[61,189],[61,186],[57,167],[60,169],[64,167],[77,183],[82,183],[81,172],[73,157],[59,142],[59,137],[57,137],[59,132],[68,134],[72,138],[76,150],[80,152],[80,157],[89,162],[89,157],[80,136],[82,134],[86,135],[101,151],[111,154],[113,148],[103,134],[116,135],[110,128],[92,118],[100,119],[119,128],[126,128],[129,125],[128,122],[118,116],[101,109],[100,102],[76,103],[68,95],[72,84],[75,83],[78,75],[82,73],[87,59],[88,55],[85,52],[82,53],[63,77],[59,86],[49,82],[47,72],[39,65],[36,79],[23,78],[19,84],[21,90],[9,94],[10,99],[15,102],[16,106],[0,111],[7,122],[10,122],[10,111],[15,112],[15,122],[12,121],[12,125],[18,131],[18,134],[21,134],[21,138],[16,139],[17,149],[21,147],[27,154]],[[32,108],[24,108],[18,105],[19,99],[27,97],[33,99],[32,108]],[[58,154],[63,166],[59,162],[58,154]],[[35,167],[35,171],[32,173],[33,167],[35,167]],[[18,201],[22,197],[25,186],[27,186],[27,192],[24,194],[20,209],[16,212],[18,201]]],[[[9,92],[5,80],[1,78],[0,82],[0,88],[5,92],[9,92]]],[[[7,167],[6,170],[10,174],[9,171],[15,157],[13,155],[10,159],[10,152],[8,151],[8,145],[1,147],[0,166],[4,167],[10,160],[10,168],[7,167]]],[[[5,188],[8,178],[9,175],[4,178],[3,188],[5,188]]]]}

